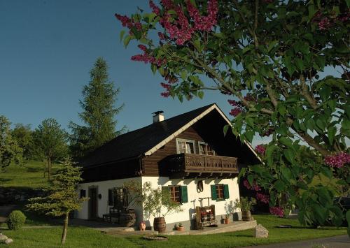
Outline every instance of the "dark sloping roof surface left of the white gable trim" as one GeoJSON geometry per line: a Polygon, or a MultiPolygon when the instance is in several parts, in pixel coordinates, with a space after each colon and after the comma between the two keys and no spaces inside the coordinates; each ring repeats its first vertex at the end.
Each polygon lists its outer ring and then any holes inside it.
{"type": "Polygon", "coordinates": [[[140,156],[181,129],[212,105],[214,104],[122,134],[87,155],[81,161],[81,164],[84,167],[94,166],[140,156]]]}

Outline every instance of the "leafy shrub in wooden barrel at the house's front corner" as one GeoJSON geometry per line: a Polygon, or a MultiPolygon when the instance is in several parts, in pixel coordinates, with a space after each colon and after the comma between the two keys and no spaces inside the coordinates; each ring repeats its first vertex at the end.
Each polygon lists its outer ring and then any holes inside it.
{"type": "Polygon", "coordinates": [[[142,187],[142,203],[145,217],[154,217],[153,228],[159,233],[165,233],[167,214],[183,211],[179,203],[172,201],[169,191],[160,187],[153,189],[151,182],[145,182],[142,187]]]}

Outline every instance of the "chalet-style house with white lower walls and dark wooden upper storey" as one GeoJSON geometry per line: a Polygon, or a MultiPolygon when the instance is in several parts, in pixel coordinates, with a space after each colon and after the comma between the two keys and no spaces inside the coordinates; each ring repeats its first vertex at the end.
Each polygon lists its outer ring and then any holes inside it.
{"type": "MultiPolygon", "coordinates": [[[[76,217],[109,214],[123,205],[123,183],[136,180],[167,187],[172,200],[181,204],[183,212],[165,217],[168,229],[179,222],[195,228],[195,210],[201,205],[215,205],[220,221],[225,203],[239,198],[239,168],[257,162],[250,144],[241,144],[230,131],[224,136],[226,124],[230,121],[216,104],[169,119],[155,112],[153,124],[118,136],[84,159],[79,190],[90,199],[76,217]]],[[[134,209],[137,223],[153,225],[141,206],[134,209]]]]}

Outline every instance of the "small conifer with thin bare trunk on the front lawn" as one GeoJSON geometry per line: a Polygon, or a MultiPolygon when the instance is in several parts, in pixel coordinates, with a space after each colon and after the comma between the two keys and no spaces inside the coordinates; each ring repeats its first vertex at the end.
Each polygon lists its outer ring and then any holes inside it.
{"type": "Polygon", "coordinates": [[[48,189],[48,196],[31,198],[27,205],[29,210],[54,217],[64,217],[62,245],[66,242],[69,213],[80,210],[81,204],[87,200],[78,196],[77,185],[82,181],[80,175],[80,168],[73,166],[71,159],[65,159],[48,189]]]}

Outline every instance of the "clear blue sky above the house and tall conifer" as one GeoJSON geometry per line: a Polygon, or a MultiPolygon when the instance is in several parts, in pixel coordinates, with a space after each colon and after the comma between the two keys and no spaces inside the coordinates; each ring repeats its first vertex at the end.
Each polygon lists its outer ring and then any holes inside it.
{"type": "Polygon", "coordinates": [[[162,78],[130,60],[140,52],[137,44],[125,50],[119,41],[114,13],[128,15],[137,6],[148,9],[148,1],[0,0],[0,115],[33,128],[48,117],[64,128],[70,120],[79,123],[78,99],[99,56],[120,87],[117,104],[125,103],[119,128],[151,124],[156,110],[172,117],[214,102],[228,115],[230,106],[218,93],[183,103],[160,96],[162,78]]]}

